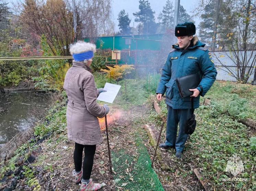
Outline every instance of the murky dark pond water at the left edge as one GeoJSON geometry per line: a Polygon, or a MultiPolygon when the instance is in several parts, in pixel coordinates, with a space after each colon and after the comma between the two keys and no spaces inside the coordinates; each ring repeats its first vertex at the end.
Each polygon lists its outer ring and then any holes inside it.
{"type": "Polygon", "coordinates": [[[45,93],[0,94],[0,146],[33,126],[50,104],[51,96],[45,93]]]}

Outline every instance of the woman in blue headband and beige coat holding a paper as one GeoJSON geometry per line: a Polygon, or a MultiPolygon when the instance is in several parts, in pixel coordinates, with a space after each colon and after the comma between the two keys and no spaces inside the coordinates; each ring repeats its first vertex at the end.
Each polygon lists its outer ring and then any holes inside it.
{"type": "Polygon", "coordinates": [[[95,87],[91,73],[94,52],[95,44],[79,41],[71,45],[70,53],[74,60],[63,86],[68,96],[68,138],[75,142],[73,175],[75,183],[81,182],[80,191],[96,191],[102,187],[101,184],[93,183],[90,176],[96,145],[103,141],[98,118],[103,118],[109,112],[109,107],[96,102],[97,96],[104,90],[95,87]]]}

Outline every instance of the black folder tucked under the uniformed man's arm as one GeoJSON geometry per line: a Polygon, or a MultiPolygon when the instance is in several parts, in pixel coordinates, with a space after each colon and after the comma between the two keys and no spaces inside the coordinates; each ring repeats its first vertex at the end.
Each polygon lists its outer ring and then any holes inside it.
{"type": "Polygon", "coordinates": [[[182,98],[193,95],[193,92],[189,91],[189,89],[197,88],[200,82],[201,78],[198,73],[176,78],[176,84],[182,98]]]}

